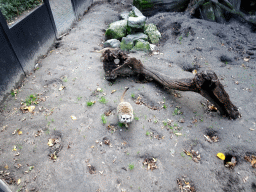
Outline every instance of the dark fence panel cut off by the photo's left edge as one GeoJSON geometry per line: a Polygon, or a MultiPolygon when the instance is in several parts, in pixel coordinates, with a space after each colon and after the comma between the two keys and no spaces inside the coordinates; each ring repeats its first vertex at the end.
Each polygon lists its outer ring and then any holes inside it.
{"type": "Polygon", "coordinates": [[[21,75],[24,75],[21,65],[0,25],[0,101],[3,100],[8,85],[18,82],[21,75]]]}

